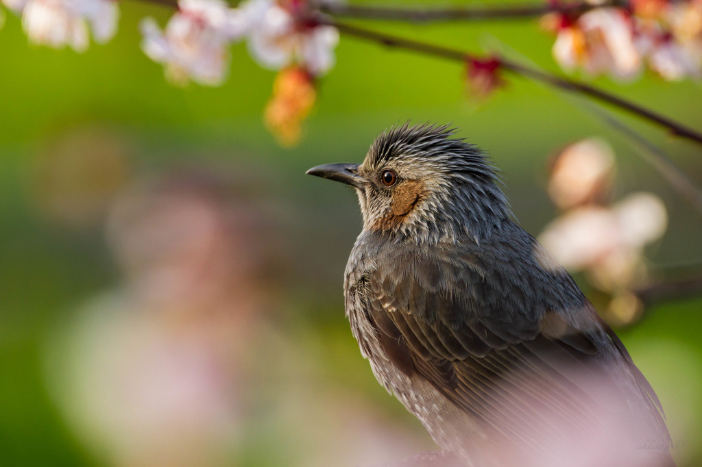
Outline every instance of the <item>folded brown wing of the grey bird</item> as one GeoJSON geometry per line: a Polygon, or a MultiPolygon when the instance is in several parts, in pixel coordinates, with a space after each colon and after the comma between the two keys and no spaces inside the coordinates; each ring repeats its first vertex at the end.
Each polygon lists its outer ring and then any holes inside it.
{"type": "Polygon", "coordinates": [[[500,245],[491,257],[470,249],[388,255],[364,278],[364,302],[397,367],[486,429],[529,445],[530,433],[559,423],[592,428],[597,401],[581,383],[622,359],[570,276],[514,264],[523,253],[515,248],[500,245]],[[564,308],[578,307],[570,313],[583,325],[564,318],[564,308]]]}

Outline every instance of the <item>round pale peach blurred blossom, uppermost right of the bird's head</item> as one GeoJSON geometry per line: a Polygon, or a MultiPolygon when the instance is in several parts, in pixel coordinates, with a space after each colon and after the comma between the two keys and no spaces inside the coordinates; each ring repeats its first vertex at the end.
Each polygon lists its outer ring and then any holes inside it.
{"type": "Polygon", "coordinates": [[[548,194],[559,208],[602,201],[614,174],[614,151],[607,142],[588,138],[560,151],[550,172],[548,194]]]}

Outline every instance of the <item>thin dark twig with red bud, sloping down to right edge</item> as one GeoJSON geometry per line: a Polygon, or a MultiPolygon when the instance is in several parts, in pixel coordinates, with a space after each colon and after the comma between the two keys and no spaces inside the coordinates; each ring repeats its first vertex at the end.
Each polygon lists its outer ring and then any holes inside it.
{"type": "MultiPolygon", "coordinates": [[[[432,55],[435,57],[444,57],[449,60],[455,60],[459,62],[466,62],[471,58],[475,58],[474,54],[465,52],[463,50],[457,50],[454,48],[448,48],[444,46],[436,46],[430,43],[425,43],[421,41],[415,41],[413,39],[406,39],[400,36],[394,36],[392,34],[385,34],[384,32],[377,32],[371,29],[366,29],[363,27],[358,27],[355,25],[349,25],[344,22],[338,22],[331,18],[319,18],[320,23],[326,25],[331,25],[336,27],[342,34],[347,34],[349,36],[355,36],[360,39],[366,39],[368,41],[373,41],[381,43],[385,46],[403,48],[405,50],[413,50],[414,52],[423,53],[425,55],[432,55]]],[[[535,81],[540,81],[546,83],[550,86],[560,88],[562,90],[567,90],[571,93],[578,93],[581,95],[588,95],[593,97],[595,100],[600,102],[605,102],[614,107],[628,111],[630,114],[639,116],[640,118],[654,123],[663,128],[670,130],[673,135],[687,138],[702,144],[702,133],[699,133],[692,128],[684,126],[682,123],[677,122],[673,119],[669,119],[666,116],[658,114],[651,111],[639,104],[630,102],[618,97],[617,95],[607,93],[607,91],[595,88],[588,84],[582,83],[580,81],[575,81],[572,79],[564,78],[562,76],[557,76],[555,74],[549,74],[547,72],[541,72],[537,69],[532,69],[530,67],[525,67],[517,62],[512,62],[511,60],[501,59],[501,67],[509,72],[517,74],[519,76],[524,76],[535,81]]]]}

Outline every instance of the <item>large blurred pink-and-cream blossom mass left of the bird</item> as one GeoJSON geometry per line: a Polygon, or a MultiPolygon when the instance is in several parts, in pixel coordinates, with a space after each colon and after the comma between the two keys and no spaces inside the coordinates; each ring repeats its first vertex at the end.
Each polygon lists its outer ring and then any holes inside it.
{"type": "Polygon", "coordinates": [[[114,202],[107,238],[123,278],[47,353],[69,426],[108,463],[357,466],[430,448],[419,424],[330,384],[309,334],[280,327],[271,230],[213,170],[142,180],[114,202]]]}

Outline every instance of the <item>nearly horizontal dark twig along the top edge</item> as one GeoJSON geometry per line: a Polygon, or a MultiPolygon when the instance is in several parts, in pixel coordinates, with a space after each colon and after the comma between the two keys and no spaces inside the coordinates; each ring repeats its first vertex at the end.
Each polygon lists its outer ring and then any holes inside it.
{"type": "Polygon", "coordinates": [[[515,20],[519,18],[536,18],[546,13],[572,13],[579,15],[593,8],[607,6],[623,6],[621,0],[606,1],[604,4],[593,5],[578,1],[573,4],[534,4],[534,5],[490,5],[490,6],[461,6],[461,7],[421,7],[395,8],[392,6],[366,6],[340,3],[320,4],[319,9],[330,15],[344,18],[363,18],[367,20],[389,20],[402,22],[430,21],[470,21],[470,20],[515,20]]]}

